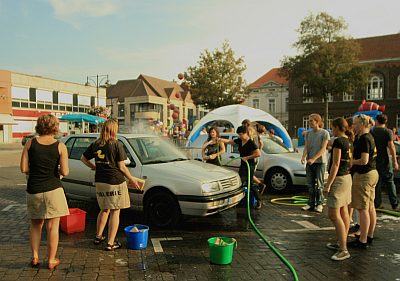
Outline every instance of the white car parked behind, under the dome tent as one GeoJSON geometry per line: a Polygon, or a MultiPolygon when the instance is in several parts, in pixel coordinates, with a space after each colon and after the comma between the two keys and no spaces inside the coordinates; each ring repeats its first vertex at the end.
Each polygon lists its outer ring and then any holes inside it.
{"type": "MultiPolygon", "coordinates": [[[[235,133],[221,133],[221,138],[238,138],[235,133]]],[[[201,147],[207,135],[200,135],[193,143],[188,143],[188,153],[192,159],[201,160],[201,147]]],[[[287,191],[292,186],[307,185],[305,165],[301,164],[301,154],[291,152],[281,142],[268,136],[262,136],[264,144],[255,175],[264,179],[268,189],[275,192],[287,191]]],[[[237,145],[226,145],[226,152],[222,155],[222,165],[237,169],[240,160],[237,145]]]]}

